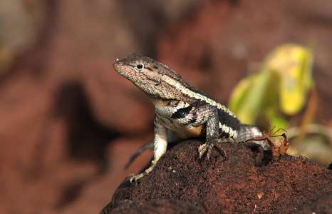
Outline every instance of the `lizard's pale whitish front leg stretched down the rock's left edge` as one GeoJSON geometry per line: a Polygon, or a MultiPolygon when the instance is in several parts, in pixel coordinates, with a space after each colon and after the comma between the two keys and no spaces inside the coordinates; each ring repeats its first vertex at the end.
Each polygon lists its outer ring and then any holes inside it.
{"type": "Polygon", "coordinates": [[[138,175],[133,175],[130,178],[130,182],[133,180],[138,180],[145,175],[148,175],[155,165],[159,161],[160,157],[166,152],[167,150],[167,128],[162,126],[157,116],[155,116],[155,139],[153,140],[153,160],[151,165],[144,173],[140,173],[138,175]]]}

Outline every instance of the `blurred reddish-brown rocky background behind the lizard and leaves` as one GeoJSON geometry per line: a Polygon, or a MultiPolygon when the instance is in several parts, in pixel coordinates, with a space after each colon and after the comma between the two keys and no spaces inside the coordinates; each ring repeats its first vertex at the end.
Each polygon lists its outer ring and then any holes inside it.
{"type": "Polygon", "coordinates": [[[152,103],[113,70],[139,52],[226,104],[281,44],[314,44],[332,126],[332,1],[2,0],[0,213],[98,213],[152,139],[152,103]]]}

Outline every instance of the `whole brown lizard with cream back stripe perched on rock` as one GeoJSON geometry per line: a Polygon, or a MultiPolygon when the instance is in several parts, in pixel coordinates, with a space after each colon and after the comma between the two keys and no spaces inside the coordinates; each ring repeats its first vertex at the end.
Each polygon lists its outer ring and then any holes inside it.
{"type": "Polygon", "coordinates": [[[262,136],[256,126],[242,124],[226,106],[208,93],[190,86],[178,73],[163,63],[141,54],[129,54],[115,61],[113,68],[133,82],[155,105],[153,159],[145,172],[133,175],[130,182],[149,174],[167,149],[167,130],[180,138],[204,137],[199,158],[214,147],[224,152],[222,143],[240,142],[262,136]]]}

